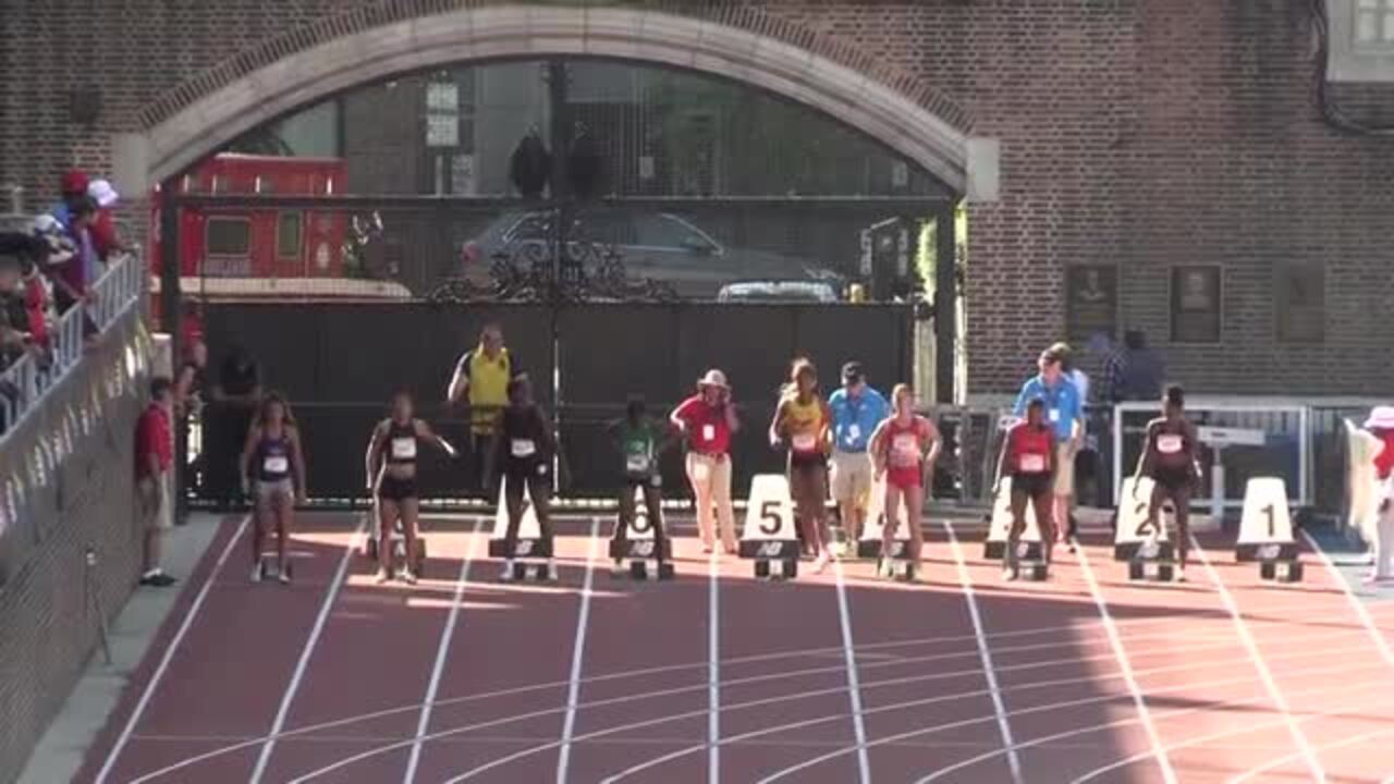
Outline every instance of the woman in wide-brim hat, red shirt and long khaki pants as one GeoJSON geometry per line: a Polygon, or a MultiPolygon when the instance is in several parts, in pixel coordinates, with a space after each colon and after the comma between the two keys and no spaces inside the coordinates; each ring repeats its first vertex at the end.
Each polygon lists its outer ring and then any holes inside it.
{"type": "Polygon", "coordinates": [[[737,541],[736,512],[730,505],[730,437],[740,430],[740,419],[730,402],[726,374],[708,370],[697,381],[697,393],[673,409],[669,420],[687,442],[687,481],[691,483],[697,505],[703,552],[711,552],[715,547],[715,526],[719,526],[722,547],[726,554],[735,554],[737,541]]]}

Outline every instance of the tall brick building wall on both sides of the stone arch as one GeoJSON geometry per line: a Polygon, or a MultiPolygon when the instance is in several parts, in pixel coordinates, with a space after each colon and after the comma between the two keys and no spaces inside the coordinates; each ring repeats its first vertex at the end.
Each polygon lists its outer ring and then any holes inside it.
{"type": "MultiPolygon", "coordinates": [[[[202,68],[368,0],[6,0],[0,183],[47,193],[105,134],[202,68]],[[86,20],[86,24],[79,24],[86,20]],[[56,40],[66,40],[56,45],[56,40]],[[85,61],[82,74],[70,63],[85,61]],[[66,91],[103,89],[95,128],[66,91]]],[[[669,3],[672,6],[675,3],[669,3]]],[[[677,3],[680,4],[680,3],[677,3]]],[[[712,3],[686,3],[687,7],[712,3]]],[[[1316,106],[1309,0],[763,0],[758,7],[917,75],[1002,141],[1002,199],[970,211],[970,388],[1015,388],[1064,326],[1062,266],[1121,265],[1124,321],[1200,392],[1370,395],[1394,363],[1368,328],[1394,293],[1384,239],[1394,141],[1344,134],[1316,106]],[[1326,266],[1324,339],[1282,345],[1274,269],[1326,266]],[[1168,266],[1224,266],[1224,339],[1170,346],[1168,266]],[[1037,307],[1023,310],[1020,303],[1037,307]],[[1376,354],[1377,356],[1377,354],[1376,354]]],[[[1394,91],[1340,86],[1365,119],[1394,91]]]]}

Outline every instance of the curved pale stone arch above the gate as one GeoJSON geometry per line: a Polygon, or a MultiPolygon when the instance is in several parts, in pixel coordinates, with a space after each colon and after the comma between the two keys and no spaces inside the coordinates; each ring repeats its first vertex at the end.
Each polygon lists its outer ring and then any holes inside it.
{"type": "Polygon", "coordinates": [[[739,3],[693,8],[386,0],[325,18],[185,81],[141,112],[159,181],[293,109],[392,74],[467,60],[616,57],[746,82],[878,140],[956,193],[967,116],[913,74],[739,3]]]}

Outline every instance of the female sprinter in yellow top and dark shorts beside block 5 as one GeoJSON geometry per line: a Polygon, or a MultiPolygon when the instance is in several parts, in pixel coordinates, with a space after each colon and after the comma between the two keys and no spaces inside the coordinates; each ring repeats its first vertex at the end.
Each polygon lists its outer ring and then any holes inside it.
{"type": "Polygon", "coordinates": [[[789,368],[789,384],[781,389],[775,419],[769,423],[769,445],[789,445],[789,494],[803,541],[815,558],[813,571],[828,565],[828,449],[832,412],[818,395],[818,371],[806,359],[789,368]]]}

